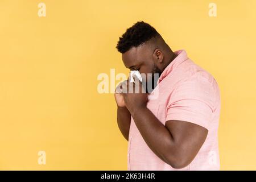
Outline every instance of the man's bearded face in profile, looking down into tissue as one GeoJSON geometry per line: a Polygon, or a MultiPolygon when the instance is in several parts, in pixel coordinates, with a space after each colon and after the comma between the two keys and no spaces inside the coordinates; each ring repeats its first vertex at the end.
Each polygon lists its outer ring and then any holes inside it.
{"type": "MultiPolygon", "coordinates": [[[[144,73],[146,75],[146,82],[151,83],[149,86],[150,89],[155,88],[158,77],[160,77],[160,74],[162,73],[157,66],[158,60],[155,59],[153,54],[154,49],[147,45],[133,47],[122,54],[122,60],[125,67],[129,68],[130,71],[138,70],[141,74],[144,73]],[[158,76],[154,77],[154,73],[158,73],[158,76]]],[[[148,91],[147,86],[147,92],[148,91]]]]}

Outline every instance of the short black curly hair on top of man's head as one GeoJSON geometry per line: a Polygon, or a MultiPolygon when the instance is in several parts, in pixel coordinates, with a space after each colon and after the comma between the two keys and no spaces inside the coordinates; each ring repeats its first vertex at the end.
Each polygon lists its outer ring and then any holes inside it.
{"type": "Polygon", "coordinates": [[[130,48],[138,47],[155,36],[160,36],[155,28],[148,23],[140,21],[126,30],[125,34],[119,38],[116,48],[119,52],[125,53],[130,48]]]}

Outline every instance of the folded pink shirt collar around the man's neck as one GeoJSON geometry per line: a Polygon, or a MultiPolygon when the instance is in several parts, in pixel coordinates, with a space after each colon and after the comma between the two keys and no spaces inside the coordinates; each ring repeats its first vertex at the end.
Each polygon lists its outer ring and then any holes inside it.
{"type": "Polygon", "coordinates": [[[160,77],[158,78],[157,84],[163,80],[167,75],[169,75],[175,68],[177,68],[180,63],[188,59],[187,52],[185,50],[179,50],[174,52],[177,57],[171,61],[171,63],[164,69],[160,77]]]}

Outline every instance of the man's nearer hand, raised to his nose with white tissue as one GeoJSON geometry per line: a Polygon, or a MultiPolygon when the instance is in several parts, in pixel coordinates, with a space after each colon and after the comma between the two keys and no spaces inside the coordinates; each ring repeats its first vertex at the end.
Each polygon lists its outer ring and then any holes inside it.
{"type": "Polygon", "coordinates": [[[138,80],[135,82],[124,81],[122,84],[122,96],[127,109],[132,115],[134,111],[147,105],[148,94],[144,90],[142,83],[138,80]]]}

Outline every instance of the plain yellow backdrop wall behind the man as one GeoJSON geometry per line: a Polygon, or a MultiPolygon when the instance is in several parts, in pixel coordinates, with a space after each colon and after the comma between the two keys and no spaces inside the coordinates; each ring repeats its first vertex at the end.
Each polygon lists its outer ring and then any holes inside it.
{"type": "Polygon", "coordinates": [[[213,1],[216,18],[210,2],[1,0],[0,169],[127,169],[114,97],[97,92],[97,76],[128,73],[115,45],[138,20],[216,78],[221,169],[256,169],[256,1],[213,1]]]}

